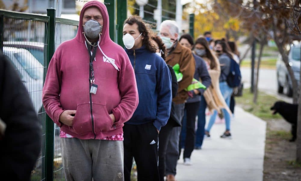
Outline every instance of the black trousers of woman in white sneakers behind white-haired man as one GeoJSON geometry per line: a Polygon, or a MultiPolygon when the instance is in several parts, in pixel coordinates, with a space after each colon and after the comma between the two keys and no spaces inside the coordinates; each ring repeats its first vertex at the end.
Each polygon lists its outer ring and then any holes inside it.
{"type": "MultiPolygon", "coordinates": [[[[186,115],[186,139],[183,158],[190,158],[194,150],[195,143],[195,118],[199,110],[200,102],[185,103],[186,115]]],[[[181,140],[181,139],[180,139],[181,140]]],[[[179,153],[181,153],[181,143],[179,144],[179,153]]]]}

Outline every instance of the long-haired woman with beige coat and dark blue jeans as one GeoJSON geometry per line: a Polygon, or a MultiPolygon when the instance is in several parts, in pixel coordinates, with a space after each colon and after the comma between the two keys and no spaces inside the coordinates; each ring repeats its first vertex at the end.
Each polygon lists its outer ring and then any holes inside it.
{"type": "Polygon", "coordinates": [[[219,89],[219,76],[221,73],[219,60],[215,56],[214,52],[209,48],[207,40],[204,37],[199,37],[195,41],[194,52],[196,52],[198,56],[202,57],[202,59],[207,63],[208,72],[211,78],[211,85],[210,87],[207,87],[204,92],[200,103],[200,109],[197,113],[198,120],[195,149],[201,149],[204,136],[206,138],[210,138],[209,133],[205,134],[206,107],[208,107],[208,110],[211,113],[213,113],[213,110],[221,113],[221,108],[225,108],[227,110],[229,110],[229,108],[219,89]]]}

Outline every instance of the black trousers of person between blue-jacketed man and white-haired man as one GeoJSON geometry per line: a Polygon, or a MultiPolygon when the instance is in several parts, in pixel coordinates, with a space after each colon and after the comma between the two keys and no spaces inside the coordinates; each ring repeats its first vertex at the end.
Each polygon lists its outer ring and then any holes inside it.
{"type": "Polygon", "coordinates": [[[160,181],[164,181],[165,176],[165,156],[166,149],[168,145],[168,140],[170,138],[170,133],[174,127],[173,120],[169,119],[167,124],[163,126],[159,133],[159,176],[160,181]]]}

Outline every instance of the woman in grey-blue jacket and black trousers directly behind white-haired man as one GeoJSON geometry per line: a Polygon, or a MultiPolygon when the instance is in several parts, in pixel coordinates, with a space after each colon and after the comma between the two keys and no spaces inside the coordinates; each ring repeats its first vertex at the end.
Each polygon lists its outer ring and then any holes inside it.
{"type": "MultiPolygon", "coordinates": [[[[180,37],[179,43],[182,46],[185,46],[189,49],[193,49],[194,42],[189,34],[183,34],[180,37]]],[[[206,63],[203,59],[201,59],[199,56],[195,55],[194,53],[193,57],[195,60],[195,73],[194,73],[194,79],[200,80],[202,79],[202,84],[206,87],[209,87],[211,84],[211,79],[209,76],[209,73],[207,71],[206,63]]],[[[186,132],[186,140],[185,140],[185,147],[184,147],[184,164],[185,165],[191,165],[190,156],[192,151],[194,150],[194,143],[195,143],[195,118],[197,115],[197,111],[200,106],[201,101],[201,95],[204,93],[204,89],[198,88],[191,90],[190,93],[191,96],[186,100],[185,103],[185,113],[182,122],[186,122],[186,126],[182,123],[182,133],[186,132]],[[185,130],[186,128],[186,130],[185,130]]],[[[181,153],[181,135],[180,135],[180,143],[179,143],[179,152],[181,153]]]]}

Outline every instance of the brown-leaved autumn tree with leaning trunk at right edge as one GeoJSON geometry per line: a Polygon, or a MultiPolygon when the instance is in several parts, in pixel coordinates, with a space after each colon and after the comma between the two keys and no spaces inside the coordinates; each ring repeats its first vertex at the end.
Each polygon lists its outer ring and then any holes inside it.
{"type": "MultiPolygon", "coordinates": [[[[297,80],[288,60],[288,49],[293,40],[301,39],[301,2],[297,0],[215,0],[231,17],[237,17],[242,26],[248,30],[253,38],[261,44],[267,38],[273,38],[282,61],[285,63],[293,85],[293,103],[301,103],[301,86],[297,80]],[[299,100],[298,100],[299,96],[299,100]]],[[[259,56],[260,57],[260,56],[259,56]]],[[[260,64],[260,59],[258,66],[260,64]]],[[[301,75],[300,75],[301,78],[301,75]]],[[[258,80],[258,79],[257,79],[258,80]]],[[[257,90],[257,89],[256,89],[257,90]]],[[[301,162],[301,109],[298,110],[297,131],[297,161],[301,162]]]]}

